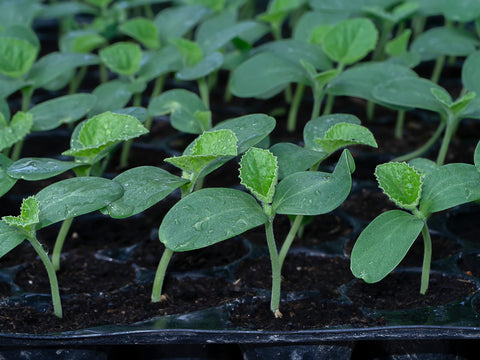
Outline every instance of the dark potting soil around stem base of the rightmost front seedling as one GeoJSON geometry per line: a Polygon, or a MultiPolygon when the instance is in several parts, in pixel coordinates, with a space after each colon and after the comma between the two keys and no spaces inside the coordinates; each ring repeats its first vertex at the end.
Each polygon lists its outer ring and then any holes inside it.
{"type": "Polygon", "coordinates": [[[395,272],[375,284],[356,279],[346,295],[358,306],[400,310],[447,304],[478,290],[474,282],[462,277],[431,273],[427,293],[421,295],[420,277],[420,272],[395,272]]]}

